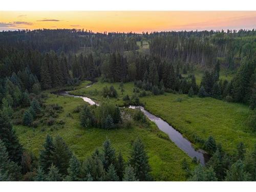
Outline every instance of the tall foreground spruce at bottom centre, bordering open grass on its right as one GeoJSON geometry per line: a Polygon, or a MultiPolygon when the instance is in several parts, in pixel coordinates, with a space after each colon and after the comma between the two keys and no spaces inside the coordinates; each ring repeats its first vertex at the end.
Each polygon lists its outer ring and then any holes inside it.
{"type": "Polygon", "coordinates": [[[151,167],[148,164],[148,156],[140,139],[137,139],[133,144],[133,151],[129,163],[134,168],[136,178],[140,181],[151,180],[151,167]]]}

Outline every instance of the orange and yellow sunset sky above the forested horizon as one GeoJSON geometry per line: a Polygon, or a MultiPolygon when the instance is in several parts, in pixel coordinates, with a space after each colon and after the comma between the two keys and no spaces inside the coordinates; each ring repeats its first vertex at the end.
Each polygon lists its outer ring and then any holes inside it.
{"type": "Polygon", "coordinates": [[[152,32],[256,28],[256,11],[0,11],[0,31],[152,32]]]}

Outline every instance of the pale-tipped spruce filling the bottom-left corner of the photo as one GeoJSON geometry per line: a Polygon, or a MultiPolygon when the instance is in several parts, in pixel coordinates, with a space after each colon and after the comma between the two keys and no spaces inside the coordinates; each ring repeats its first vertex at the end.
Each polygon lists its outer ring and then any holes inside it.
{"type": "Polygon", "coordinates": [[[17,181],[20,168],[10,161],[4,142],[0,139],[0,181],[17,181]]]}

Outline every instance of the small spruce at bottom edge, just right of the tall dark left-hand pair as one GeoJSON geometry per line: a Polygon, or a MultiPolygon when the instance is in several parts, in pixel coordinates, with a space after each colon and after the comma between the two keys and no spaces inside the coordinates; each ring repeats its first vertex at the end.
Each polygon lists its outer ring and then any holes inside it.
{"type": "Polygon", "coordinates": [[[81,165],[76,156],[72,156],[69,161],[68,176],[66,181],[79,181],[81,175],[81,165]]]}

